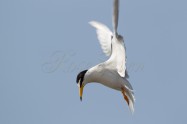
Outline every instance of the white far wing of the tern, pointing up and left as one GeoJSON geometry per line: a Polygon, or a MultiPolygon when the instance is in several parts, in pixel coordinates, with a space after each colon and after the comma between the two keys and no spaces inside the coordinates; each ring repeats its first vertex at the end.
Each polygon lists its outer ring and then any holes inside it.
{"type": "Polygon", "coordinates": [[[110,56],[111,55],[112,32],[106,25],[100,22],[91,21],[89,22],[89,24],[93,26],[94,28],[96,28],[97,38],[99,40],[101,48],[103,52],[106,54],[106,56],[110,56]]]}

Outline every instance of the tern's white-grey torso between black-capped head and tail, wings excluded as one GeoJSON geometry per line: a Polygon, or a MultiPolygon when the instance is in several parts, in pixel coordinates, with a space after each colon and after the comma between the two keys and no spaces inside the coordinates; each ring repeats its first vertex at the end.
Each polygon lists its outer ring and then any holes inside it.
{"type": "Polygon", "coordinates": [[[121,77],[115,69],[111,69],[110,67],[110,65],[104,62],[90,68],[85,74],[85,84],[97,82],[119,91],[127,85],[129,89],[133,90],[128,80],[121,77]]]}

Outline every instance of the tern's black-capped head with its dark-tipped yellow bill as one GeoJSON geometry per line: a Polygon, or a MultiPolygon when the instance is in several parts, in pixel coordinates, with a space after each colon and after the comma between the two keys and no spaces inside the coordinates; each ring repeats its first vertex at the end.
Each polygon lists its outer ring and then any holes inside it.
{"type": "Polygon", "coordinates": [[[83,89],[84,89],[84,76],[85,76],[85,73],[87,72],[88,70],[84,70],[82,72],[80,72],[78,75],[77,75],[77,85],[79,87],[79,96],[80,96],[80,100],[82,101],[82,94],[83,94],[83,89]]]}

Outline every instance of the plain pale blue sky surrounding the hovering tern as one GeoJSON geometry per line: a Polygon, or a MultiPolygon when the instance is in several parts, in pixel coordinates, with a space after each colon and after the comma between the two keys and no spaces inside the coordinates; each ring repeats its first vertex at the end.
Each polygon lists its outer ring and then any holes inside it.
{"type": "Polygon", "coordinates": [[[132,115],[120,92],[77,74],[107,59],[95,29],[112,0],[0,0],[1,124],[187,123],[187,1],[121,0],[132,115]]]}

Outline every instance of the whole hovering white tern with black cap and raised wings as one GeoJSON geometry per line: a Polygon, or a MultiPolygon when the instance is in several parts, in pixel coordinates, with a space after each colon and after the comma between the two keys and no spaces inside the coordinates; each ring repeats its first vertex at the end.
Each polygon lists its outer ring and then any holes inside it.
{"type": "Polygon", "coordinates": [[[77,75],[79,95],[82,100],[83,88],[86,84],[97,82],[109,88],[121,91],[131,112],[134,112],[134,92],[127,80],[126,51],[124,40],[117,33],[119,0],[114,0],[113,11],[113,33],[102,23],[91,21],[90,24],[96,28],[97,37],[103,52],[110,56],[109,59],[77,75]]]}

